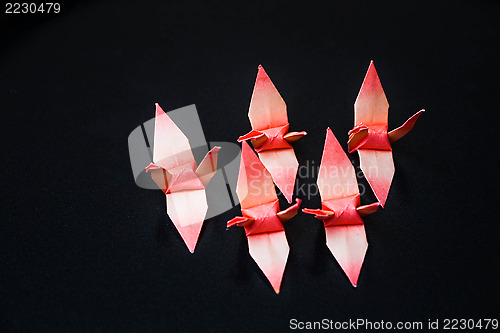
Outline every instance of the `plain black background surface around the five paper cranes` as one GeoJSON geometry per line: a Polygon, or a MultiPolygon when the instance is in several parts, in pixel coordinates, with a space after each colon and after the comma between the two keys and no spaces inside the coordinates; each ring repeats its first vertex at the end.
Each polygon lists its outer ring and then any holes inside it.
{"type": "Polygon", "coordinates": [[[479,2],[309,1],[74,2],[59,15],[2,14],[3,331],[498,318],[497,16],[479,2]],[[275,295],[243,230],[226,231],[239,206],[205,222],[191,255],[164,195],[135,185],[127,137],[155,102],[194,103],[207,141],[235,142],[250,129],[259,64],[290,129],[309,133],[294,144],[301,163],[320,161],[327,126],[346,148],[371,59],[390,129],[427,112],[393,146],[396,174],[386,208],[365,220],[357,289],[309,215],[286,224],[291,251],[275,295]]]}

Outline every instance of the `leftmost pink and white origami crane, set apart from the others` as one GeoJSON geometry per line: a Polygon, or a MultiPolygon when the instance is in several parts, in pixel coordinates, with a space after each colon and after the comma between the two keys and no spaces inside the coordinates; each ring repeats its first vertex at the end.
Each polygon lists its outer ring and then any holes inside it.
{"type": "Polygon", "coordinates": [[[167,214],[194,252],[205,215],[205,186],[217,170],[220,147],[210,150],[196,168],[188,138],[156,104],[153,163],[146,167],[167,197],[167,214]]]}

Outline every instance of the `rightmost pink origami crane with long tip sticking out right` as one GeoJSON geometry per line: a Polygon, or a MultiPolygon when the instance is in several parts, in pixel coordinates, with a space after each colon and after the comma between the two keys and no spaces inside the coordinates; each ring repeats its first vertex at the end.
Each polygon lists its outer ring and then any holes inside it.
{"type": "Polygon", "coordinates": [[[354,128],[349,131],[348,150],[358,151],[359,163],[380,205],[384,207],[394,176],[391,143],[412,128],[424,110],[418,111],[402,126],[387,133],[389,103],[373,61],[354,103],[354,128]]]}

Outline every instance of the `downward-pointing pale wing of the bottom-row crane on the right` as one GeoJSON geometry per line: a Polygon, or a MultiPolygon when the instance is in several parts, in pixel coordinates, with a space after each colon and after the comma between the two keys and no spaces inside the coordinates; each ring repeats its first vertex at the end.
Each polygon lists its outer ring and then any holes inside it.
{"type": "Polygon", "coordinates": [[[325,232],[326,245],[351,284],[357,287],[359,273],[368,248],[364,225],[331,226],[326,227],[325,232]]]}

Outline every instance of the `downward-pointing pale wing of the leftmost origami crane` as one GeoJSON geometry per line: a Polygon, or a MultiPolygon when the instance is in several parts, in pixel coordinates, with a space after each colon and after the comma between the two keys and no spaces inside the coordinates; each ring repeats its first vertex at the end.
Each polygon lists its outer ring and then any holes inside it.
{"type": "Polygon", "coordinates": [[[191,253],[207,213],[205,190],[179,191],[167,194],[167,213],[191,253]]]}

